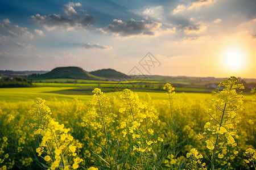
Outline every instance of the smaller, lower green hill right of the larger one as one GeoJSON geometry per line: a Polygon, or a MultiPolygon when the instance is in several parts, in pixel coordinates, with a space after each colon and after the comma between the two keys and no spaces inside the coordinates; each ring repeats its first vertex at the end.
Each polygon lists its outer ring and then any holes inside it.
{"type": "Polygon", "coordinates": [[[104,77],[104,78],[112,78],[112,79],[123,79],[125,78],[125,74],[113,70],[113,69],[101,69],[101,70],[97,70],[97,71],[91,71],[89,72],[92,75],[95,76],[100,76],[100,77],[104,77]]]}

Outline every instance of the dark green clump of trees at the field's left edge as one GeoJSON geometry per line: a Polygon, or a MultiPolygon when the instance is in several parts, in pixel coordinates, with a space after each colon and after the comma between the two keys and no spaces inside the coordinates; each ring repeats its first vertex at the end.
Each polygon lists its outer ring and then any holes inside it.
{"type": "Polygon", "coordinates": [[[28,81],[27,79],[20,78],[18,76],[0,79],[0,88],[7,87],[35,87],[35,85],[32,84],[32,81],[28,81]]]}

